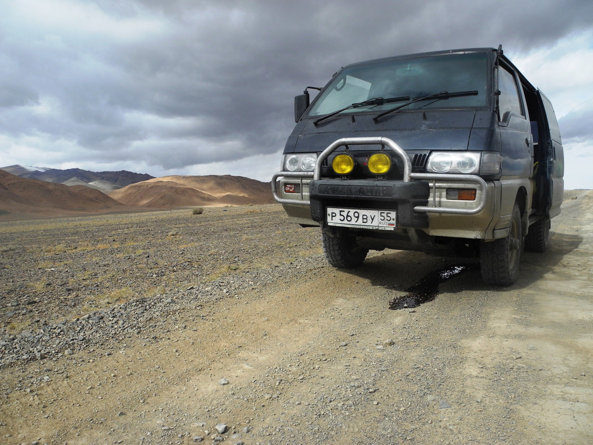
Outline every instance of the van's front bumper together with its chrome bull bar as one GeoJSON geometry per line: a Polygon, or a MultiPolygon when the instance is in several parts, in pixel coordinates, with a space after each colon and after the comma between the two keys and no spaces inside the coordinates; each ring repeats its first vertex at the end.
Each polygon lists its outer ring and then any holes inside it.
{"type": "MultiPolygon", "coordinates": [[[[272,177],[272,193],[291,216],[296,206],[310,208],[311,218],[323,224],[327,205],[392,209],[397,211],[399,227],[420,228],[432,236],[493,239],[500,209],[500,183],[484,181],[473,174],[412,173],[410,159],[394,141],[383,137],[342,138],[334,141],[317,158],[313,172],[279,171],[272,177]],[[381,144],[389,147],[404,164],[403,180],[321,179],[321,164],[336,148],[347,144],[381,144]],[[282,177],[301,181],[300,196],[282,197],[276,190],[276,180],[282,177]],[[309,180],[313,177],[313,180],[309,180]],[[303,179],[307,179],[307,195],[303,179]],[[475,189],[474,201],[447,199],[447,189],[475,189]]],[[[298,212],[299,217],[308,212],[298,212]]],[[[297,215],[294,215],[295,217],[297,215]]],[[[308,216],[308,215],[307,215],[308,216]]],[[[300,219],[299,218],[299,219],[300,219]]],[[[292,219],[292,218],[291,218],[292,219]]],[[[295,218],[296,219],[296,218],[295,218]]],[[[296,222],[296,221],[295,221],[296,222]]]]}

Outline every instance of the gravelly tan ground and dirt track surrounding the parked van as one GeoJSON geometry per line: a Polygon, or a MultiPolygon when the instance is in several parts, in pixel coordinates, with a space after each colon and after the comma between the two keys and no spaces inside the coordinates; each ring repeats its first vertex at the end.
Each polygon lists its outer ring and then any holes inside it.
{"type": "Polygon", "coordinates": [[[415,312],[389,302],[471,262],[386,250],[339,271],[318,229],[276,205],[2,223],[15,249],[0,259],[5,341],[42,329],[59,345],[44,327],[106,318],[72,355],[5,361],[0,443],[591,443],[588,195],[567,194],[549,252],[525,252],[517,284],[470,270],[415,312]],[[74,278],[60,288],[60,275],[74,278]],[[139,298],[141,315],[125,309],[139,298]],[[8,317],[13,303],[25,313],[8,317]]]}

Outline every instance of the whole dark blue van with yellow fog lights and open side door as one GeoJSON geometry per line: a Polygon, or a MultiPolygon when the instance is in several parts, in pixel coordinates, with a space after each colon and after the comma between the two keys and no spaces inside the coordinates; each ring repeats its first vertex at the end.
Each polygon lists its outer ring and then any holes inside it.
{"type": "Polygon", "coordinates": [[[310,88],[272,190],[290,221],[321,227],[331,265],[417,250],[479,258],[484,281],[509,285],[523,249],[546,250],[560,132],[500,47],[354,63],[311,103],[310,88]]]}

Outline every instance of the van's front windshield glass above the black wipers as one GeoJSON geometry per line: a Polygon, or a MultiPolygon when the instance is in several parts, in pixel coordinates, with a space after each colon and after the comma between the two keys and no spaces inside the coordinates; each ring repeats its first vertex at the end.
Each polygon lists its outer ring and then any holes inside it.
{"type": "MultiPolygon", "coordinates": [[[[406,109],[485,107],[489,104],[486,56],[486,53],[450,54],[346,68],[315,100],[308,116],[327,115],[371,98],[413,98],[440,91],[477,90],[478,94],[418,101],[406,109]]],[[[396,105],[392,102],[369,104],[342,113],[380,112],[396,105]]]]}

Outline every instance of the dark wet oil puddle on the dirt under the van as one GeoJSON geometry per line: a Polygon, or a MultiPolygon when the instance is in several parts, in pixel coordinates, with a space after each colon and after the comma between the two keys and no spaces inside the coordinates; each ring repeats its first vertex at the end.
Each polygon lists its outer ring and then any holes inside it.
{"type": "Polygon", "coordinates": [[[398,297],[389,302],[389,309],[409,309],[420,306],[422,303],[432,301],[439,293],[439,284],[444,283],[448,279],[467,271],[479,271],[479,264],[461,264],[450,266],[447,269],[440,271],[433,271],[424,278],[417,281],[415,284],[407,288],[407,292],[403,297],[398,297]]]}

